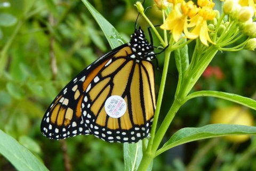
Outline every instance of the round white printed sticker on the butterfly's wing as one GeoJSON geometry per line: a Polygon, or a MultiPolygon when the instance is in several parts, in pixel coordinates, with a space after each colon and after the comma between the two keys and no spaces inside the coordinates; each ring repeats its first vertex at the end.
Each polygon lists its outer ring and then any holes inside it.
{"type": "Polygon", "coordinates": [[[105,111],[111,118],[120,118],[126,111],[126,102],[121,96],[112,95],[105,102],[105,111]]]}

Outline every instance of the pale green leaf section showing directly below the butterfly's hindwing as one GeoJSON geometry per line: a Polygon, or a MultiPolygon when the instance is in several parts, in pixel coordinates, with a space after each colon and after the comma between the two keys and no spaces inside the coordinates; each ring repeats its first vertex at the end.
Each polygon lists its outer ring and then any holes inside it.
{"type": "Polygon", "coordinates": [[[124,168],[125,171],[134,171],[139,167],[142,158],[142,141],[135,144],[124,143],[124,168]]]}

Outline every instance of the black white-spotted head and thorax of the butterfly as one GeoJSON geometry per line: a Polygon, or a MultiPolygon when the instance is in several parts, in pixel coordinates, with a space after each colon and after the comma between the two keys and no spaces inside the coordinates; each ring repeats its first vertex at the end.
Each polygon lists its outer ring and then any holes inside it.
{"type": "Polygon", "coordinates": [[[156,57],[154,47],[145,38],[145,34],[140,27],[131,35],[130,44],[137,60],[143,59],[151,61],[156,57]]]}

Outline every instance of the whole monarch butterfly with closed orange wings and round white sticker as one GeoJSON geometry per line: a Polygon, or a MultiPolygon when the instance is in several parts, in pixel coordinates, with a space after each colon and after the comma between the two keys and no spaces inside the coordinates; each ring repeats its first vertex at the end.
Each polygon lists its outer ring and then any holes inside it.
{"type": "Polygon", "coordinates": [[[57,140],[92,134],[119,143],[148,137],[156,107],[153,50],[135,29],[130,43],[101,56],[62,89],[45,112],[42,134],[57,140]]]}

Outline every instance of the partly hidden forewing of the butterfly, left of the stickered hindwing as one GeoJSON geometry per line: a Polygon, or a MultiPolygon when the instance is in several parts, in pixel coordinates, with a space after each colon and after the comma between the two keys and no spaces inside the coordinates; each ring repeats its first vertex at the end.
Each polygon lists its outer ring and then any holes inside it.
{"type": "MultiPolygon", "coordinates": [[[[66,139],[80,134],[91,134],[82,117],[82,101],[86,89],[96,80],[95,76],[113,58],[128,46],[124,44],[101,56],[69,82],[51,103],[41,123],[41,132],[50,139],[66,139]]],[[[123,50],[125,52],[125,49],[123,50]]]]}

